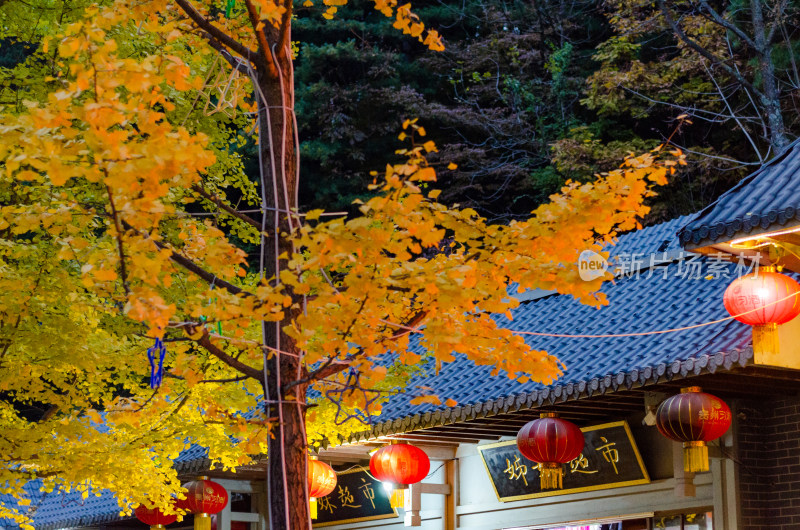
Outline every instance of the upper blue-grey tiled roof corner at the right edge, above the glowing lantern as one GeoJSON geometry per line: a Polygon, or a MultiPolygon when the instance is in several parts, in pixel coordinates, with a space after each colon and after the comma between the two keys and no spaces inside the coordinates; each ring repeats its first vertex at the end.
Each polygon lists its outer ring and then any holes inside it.
{"type": "Polygon", "coordinates": [[[702,210],[680,230],[687,248],[800,224],[800,140],[702,210]]]}

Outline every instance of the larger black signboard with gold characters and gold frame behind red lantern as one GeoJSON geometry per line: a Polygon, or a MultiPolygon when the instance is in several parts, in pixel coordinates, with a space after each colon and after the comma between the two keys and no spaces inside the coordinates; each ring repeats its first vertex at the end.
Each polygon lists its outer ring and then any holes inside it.
{"type": "Polygon", "coordinates": [[[564,488],[542,490],[538,464],[519,452],[516,440],[479,445],[486,471],[501,502],[647,484],[650,477],[624,421],[581,429],[586,445],[564,464],[564,488]]]}

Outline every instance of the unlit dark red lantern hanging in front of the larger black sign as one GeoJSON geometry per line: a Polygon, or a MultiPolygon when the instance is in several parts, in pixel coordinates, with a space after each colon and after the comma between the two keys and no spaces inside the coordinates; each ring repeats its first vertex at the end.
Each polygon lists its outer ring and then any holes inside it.
{"type": "Polygon", "coordinates": [[[574,460],[583,451],[583,432],[572,422],[554,412],[545,412],[538,420],[526,423],[517,433],[517,447],[525,458],[539,463],[542,489],[563,488],[562,464],[574,460]]]}

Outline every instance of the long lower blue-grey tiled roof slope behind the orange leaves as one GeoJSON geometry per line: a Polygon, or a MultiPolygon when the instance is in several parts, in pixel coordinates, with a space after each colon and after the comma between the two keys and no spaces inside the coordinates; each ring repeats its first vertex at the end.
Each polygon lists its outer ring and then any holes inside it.
{"type": "MultiPolygon", "coordinates": [[[[673,251],[672,255],[676,255],[675,232],[686,221],[687,218],[675,219],[623,236],[611,250],[612,260],[624,254],[656,254],[658,258],[662,252],[673,251]]],[[[672,329],[727,317],[722,295],[737,273],[735,266],[686,255],[689,256],[691,261],[660,264],[652,273],[647,269],[638,276],[618,277],[615,282],[606,283],[602,291],[610,303],[600,309],[580,304],[570,296],[550,295],[522,303],[512,312],[512,322],[505,318],[501,322],[522,331],[595,335],[672,329]],[[717,277],[707,279],[714,270],[718,271],[717,277]]],[[[649,263],[647,259],[641,261],[643,265],[649,263]]],[[[492,377],[491,366],[476,366],[461,359],[444,365],[438,375],[433,375],[430,368],[409,388],[427,386],[436,389],[443,400],[456,400],[460,409],[474,409],[499,399],[541,401],[542,395],[556,391],[559,395],[584,393],[587,388],[590,394],[592,389],[602,392],[630,383],[631,378],[644,383],[645,378],[652,381],[666,372],[685,376],[698,370],[713,371],[718,366],[730,368],[732,362],[743,364],[751,355],[750,328],[735,320],[660,335],[589,339],[528,336],[526,340],[566,365],[556,384],[519,384],[502,374],[492,377]]],[[[395,397],[384,406],[377,431],[373,432],[388,434],[403,418],[441,409],[433,405],[412,407],[408,397],[395,397]]],[[[465,418],[461,412],[451,416],[465,418]]]]}

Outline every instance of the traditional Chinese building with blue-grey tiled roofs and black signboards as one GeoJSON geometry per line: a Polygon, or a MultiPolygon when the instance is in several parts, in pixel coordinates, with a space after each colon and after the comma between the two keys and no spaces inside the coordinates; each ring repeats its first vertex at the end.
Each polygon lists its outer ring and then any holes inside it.
{"type": "MultiPolygon", "coordinates": [[[[800,319],[779,326],[775,356],[756,358],[750,328],[722,304],[730,282],[754,271],[758,257],[762,266],[800,272],[798,175],[794,143],[698,214],[622,236],[611,249],[606,307],[554,292],[520,295],[504,325],[545,334],[527,340],[556,355],[564,376],[546,386],[493,377],[492,367],[464,359],[438,373],[429,367],[409,388],[435,388],[458,404],[410,406],[397,396],[377,423],[320,450],[339,484],[320,499],[315,527],[800,528],[800,319]],[[709,471],[697,474],[684,471],[680,444],[653,426],[656,407],[692,386],[724,400],[732,420],[710,444],[709,471]],[[514,440],[550,412],[581,427],[585,446],[564,466],[563,488],[542,490],[514,440]],[[370,451],[393,440],[424,449],[432,462],[398,510],[363,470],[370,451]]],[[[176,465],[188,477],[208,461],[195,448],[176,465]]],[[[240,471],[237,480],[215,478],[232,498],[216,528],[264,530],[263,469],[240,471]]],[[[110,496],[82,501],[35,489],[33,516],[43,530],[144,527],[120,519],[110,496]]]]}

